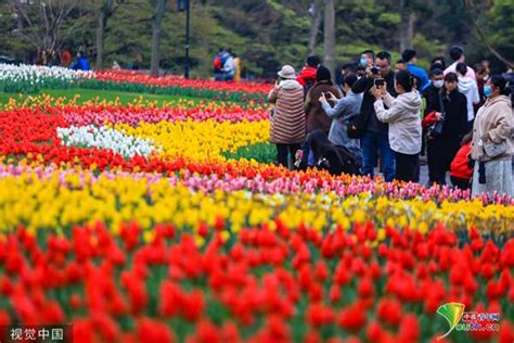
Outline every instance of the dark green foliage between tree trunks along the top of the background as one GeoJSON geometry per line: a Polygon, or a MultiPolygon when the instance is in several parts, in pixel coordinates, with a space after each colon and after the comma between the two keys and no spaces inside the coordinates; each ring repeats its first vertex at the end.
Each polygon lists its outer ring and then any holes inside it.
{"type": "MultiPolygon", "coordinates": [[[[407,1],[407,0],[406,0],[407,1]]],[[[387,49],[398,53],[402,18],[395,0],[337,0],[336,61],[355,61],[367,48],[387,49]]],[[[447,55],[458,43],[467,51],[468,62],[481,58],[493,61],[498,72],[504,65],[485,49],[474,34],[470,14],[484,28],[489,42],[507,60],[514,60],[514,2],[512,0],[476,0],[470,13],[462,0],[407,1],[415,13],[412,46],[425,66],[439,54],[447,55]]],[[[94,55],[94,39],[100,0],[80,0],[69,15],[63,34],[63,48],[85,49],[94,55]]],[[[192,0],[191,56],[192,75],[207,76],[214,54],[220,47],[231,48],[242,56],[247,76],[270,77],[283,63],[300,67],[308,53],[311,17],[309,0],[192,0]]],[[[142,53],[141,67],[150,67],[152,3],[149,0],[125,0],[110,17],[105,36],[106,66],[117,61],[131,67],[137,53],[142,53]]],[[[184,45],[184,13],[177,3],[168,1],[163,22],[162,64],[168,73],[182,73],[184,45]]],[[[5,1],[0,3],[0,54],[34,62],[37,51],[33,45],[16,37],[16,22],[5,1]]],[[[322,28],[317,51],[323,54],[322,28]]],[[[395,58],[398,54],[394,55],[395,58]]],[[[94,62],[91,59],[91,62],[94,62]]]]}

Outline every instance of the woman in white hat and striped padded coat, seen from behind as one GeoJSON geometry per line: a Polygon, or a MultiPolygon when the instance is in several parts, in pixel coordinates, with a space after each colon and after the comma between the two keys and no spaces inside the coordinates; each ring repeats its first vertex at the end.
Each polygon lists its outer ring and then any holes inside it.
{"type": "Polygon", "coordinates": [[[275,104],[271,117],[270,141],[277,144],[279,165],[287,167],[305,140],[304,87],[296,80],[295,69],[284,65],[268,101],[275,104]]]}

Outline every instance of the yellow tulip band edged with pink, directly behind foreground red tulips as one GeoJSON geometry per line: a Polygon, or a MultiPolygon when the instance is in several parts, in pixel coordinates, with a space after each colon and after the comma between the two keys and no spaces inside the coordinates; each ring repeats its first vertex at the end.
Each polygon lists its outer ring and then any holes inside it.
{"type": "MultiPolygon", "coordinates": [[[[0,169],[0,234],[24,225],[30,232],[63,231],[74,225],[120,225],[138,219],[150,229],[158,223],[192,228],[200,223],[221,221],[229,232],[248,226],[273,226],[279,218],[288,228],[308,226],[318,231],[352,223],[373,223],[380,228],[410,228],[422,234],[439,224],[459,234],[467,230],[493,237],[499,243],[514,232],[514,206],[483,202],[407,199],[394,193],[373,194],[356,189],[357,182],[339,190],[286,180],[222,178],[215,176],[128,174],[90,170],[55,170],[5,166],[0,169]],[[346,193],[343,193],[345,192],[346,193]]],[[[378,230],[382,232],[381,230],[378,230]]],[[[151,234],[152,232],[147,232],[151,234]]],[[[382,233],[378,234],[384,238],[382,233]]],[[[200,237],[198,237],[200,238],[200,237]]]]}

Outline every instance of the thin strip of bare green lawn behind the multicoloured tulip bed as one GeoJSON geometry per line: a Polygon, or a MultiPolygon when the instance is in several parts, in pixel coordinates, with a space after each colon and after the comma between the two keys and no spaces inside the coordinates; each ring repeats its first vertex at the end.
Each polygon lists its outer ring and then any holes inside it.
{"type": "MultiPolygon", "coordinates": [[[[83,103],[88,100],[99,98],[100,100],[115,101],[116,98],[119,98],[121,104],[132,103],[138,101],[142,97],[145,101],[156,101],[157,106],[163,106],[164,102],[178,101],[179,99],[191,100],[194,103],[198,103],[202,99],[198,98],[187,98],[187,97],[176,97],[176,96],[160,96],[160,94],[147,94],[147,93],[131,93],[131,92],[121,92],[115,90],[97,90],[97,89],[44,89],[41,91],[41,94],[46,93],[52,96],[53,98],[66,98],[72,99],[75,96],[80,96],[78,99],[79,103],[83,103]]],[[[34,97],[34,94],[30,94],[34,97]]],[[[28,96],[23,94],[20,98],[17,93],[4,93],[0,92],[0,104],[4,104],[9,99],[14,98],[16,100],[24,100],[28,96]]]]}

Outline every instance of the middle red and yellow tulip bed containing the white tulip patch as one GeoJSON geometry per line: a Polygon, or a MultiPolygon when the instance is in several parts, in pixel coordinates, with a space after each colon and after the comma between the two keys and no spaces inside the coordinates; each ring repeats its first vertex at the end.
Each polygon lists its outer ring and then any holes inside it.
{"type": "MultiPolygon", "coordinates": [[[[252,152],[255,144],[268,140],[269,122],[265,117],[264,110],[229,104],[198,104],[189,109],[33,104],[0,111],[0,158],[5,164],[31,167],[53,164],[62,168],[79,166],[165,176],[183,175],[187,170],[234,185],[240,183],[235,182],[237,179],[262,180],[270,182],[271,190],[277,192],[335,191],[340,195],[371,192],[393,198],[421,196],[437,203],[470,196],[467,191],[450,188],[332,177],[316,169],[296,173],[257,163],[252,160],[252,152]],[[226,152],[242,148],[248,150],[247,158],[227,160],[226,152]]],[[[484,201],[491,200],[484,198],[484,201]]],[[[505,198],[492,202],[512,203],[505,198]]]]}

